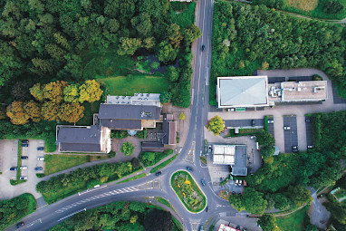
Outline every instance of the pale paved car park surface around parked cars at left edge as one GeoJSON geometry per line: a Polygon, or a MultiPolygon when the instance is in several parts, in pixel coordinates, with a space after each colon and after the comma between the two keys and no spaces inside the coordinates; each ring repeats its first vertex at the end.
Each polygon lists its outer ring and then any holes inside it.
{"type": "Polygon", "coordinates": [[[36,199],[42,197],[35,189],[36,184],[41,181],[40,178],[36,177],[34,171],[37,163],[37,147],[39,146],[43,146],[43,140],[30,140],[29,147],[23,149],[22,155],[28,156],[29,159],[22,164],[22,166],[28,167],[28,169],[23,170],[22,176],[26,175],[28,179],[22,184],[12,186],[10,178],[15,179],[16,171],[10,172],[9,169],[17,166],[18,140],[0,140],[0,159],[4,169],[3,174],[0,175],[0,199],[17,197],[24,193],[33,194],[36,199]]]}

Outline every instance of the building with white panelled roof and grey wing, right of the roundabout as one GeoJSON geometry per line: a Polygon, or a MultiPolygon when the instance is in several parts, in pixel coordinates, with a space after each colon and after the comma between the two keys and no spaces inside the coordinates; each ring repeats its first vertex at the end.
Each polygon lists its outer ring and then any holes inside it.
{"type": "Polygon", "coordinates": [[[246,145],[213,145],[213,164],[230,165],[233,176],[247,175],[246,145]]]}

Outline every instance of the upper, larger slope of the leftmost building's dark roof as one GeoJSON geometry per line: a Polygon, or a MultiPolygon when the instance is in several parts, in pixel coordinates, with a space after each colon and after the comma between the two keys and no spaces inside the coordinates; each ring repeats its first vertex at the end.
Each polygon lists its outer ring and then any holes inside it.
{"type": "Polygon", "coordinates": [[[58,142],[61,143],[84,143],[100,144],[101,126],[90,127],[59,127],[58,142]]]}

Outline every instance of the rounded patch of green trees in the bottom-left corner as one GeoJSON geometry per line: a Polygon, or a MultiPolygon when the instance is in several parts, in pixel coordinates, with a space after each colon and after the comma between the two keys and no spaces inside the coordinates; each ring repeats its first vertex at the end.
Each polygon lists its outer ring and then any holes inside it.
{"type": "Polygon", "coordinates": [[[0,229],[4,230],[35,210],[36,199],[28,193],[0,201],[0,229]]]}

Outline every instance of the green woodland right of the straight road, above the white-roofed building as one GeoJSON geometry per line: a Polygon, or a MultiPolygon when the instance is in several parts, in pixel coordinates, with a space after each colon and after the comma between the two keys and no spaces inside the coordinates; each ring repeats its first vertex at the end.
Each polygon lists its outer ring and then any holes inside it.
{"type": "MultiPolygon", "coordinates": [[[[283,14],[265,5],[220,2],[214,8],[210,85],[217,76],[252,75],[258,69],[315,67],[346,97],[345,33],[326,24],[283,14]]],[[[216,105],[216,87],[210,87],[216,105]]]]}

